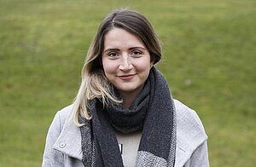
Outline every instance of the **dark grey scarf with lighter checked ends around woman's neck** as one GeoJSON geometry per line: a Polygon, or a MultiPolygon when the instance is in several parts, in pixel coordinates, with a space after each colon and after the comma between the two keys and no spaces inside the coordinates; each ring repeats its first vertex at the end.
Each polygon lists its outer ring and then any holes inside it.
{"type": "Polygon", "coordinates": [[[129,109],[90,101],[90,121],[79,117],[84,166],[124,166],[114,130],[143,130],[137,152],[138,166],[172,167],[175,163],[176,116],[168,83],[153,66],[143,91],[129,109]],[[114,129],[114,130],[113,130],[114,129]]]}

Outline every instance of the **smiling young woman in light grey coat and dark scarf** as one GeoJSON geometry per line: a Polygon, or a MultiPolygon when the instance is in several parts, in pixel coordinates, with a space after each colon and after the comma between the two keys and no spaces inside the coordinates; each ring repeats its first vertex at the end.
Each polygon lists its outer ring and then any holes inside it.
{"type": "Polygon", "coordinates": [[[161,55],[142,14],[108,14],[90,45],[75,101],[49,127],[43,166],[208,166],[201,120],[172,99],[154,67],[161,55]]]}

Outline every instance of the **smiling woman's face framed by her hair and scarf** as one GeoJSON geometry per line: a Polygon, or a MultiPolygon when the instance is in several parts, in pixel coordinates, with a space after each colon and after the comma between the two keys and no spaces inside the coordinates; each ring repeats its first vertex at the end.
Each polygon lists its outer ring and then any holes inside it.
{"type": "Polygon", "coordinates": [[[139,37],[121,28],[113,28],[105,35],[102,65],[108,81],[120,95],[138,95],[153,64],[139,37]]]}

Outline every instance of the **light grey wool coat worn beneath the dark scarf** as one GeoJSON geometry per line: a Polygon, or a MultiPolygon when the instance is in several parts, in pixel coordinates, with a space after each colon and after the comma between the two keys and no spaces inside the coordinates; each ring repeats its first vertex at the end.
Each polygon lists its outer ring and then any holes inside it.
{"type": "MultiPolygon", "coordinates": [[[[207,135],[195,111],[174,100],[177,112],[176,167],[207,167],[207,135]]],[[[44,167],[84,167],[80,129],[71,117],[72,105],[55,114],[46,138],[44,167]]]]}

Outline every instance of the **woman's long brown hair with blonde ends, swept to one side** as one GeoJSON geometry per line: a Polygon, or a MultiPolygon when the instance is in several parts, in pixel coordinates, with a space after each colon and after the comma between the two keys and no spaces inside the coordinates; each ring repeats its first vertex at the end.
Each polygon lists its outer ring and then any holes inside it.
{"type": "Polygon", "coordinates": [[[96,32],[96,37],[90,44],[82,69],[82,82],[74,101],[74,122],[79,124],[79,114],[90,119],[88,101],[98,98],[103,105],[108,101],[120,102],[112,92],[111,84],[104,76],[102,67],[102,51],[104,37],[113,28],[123,28],[127,32],[140,37],[149,51],[151,61],[157,63],[161,58],[161,46],[153,27],[146,17],[131,9],[115,9],[102,20],[96,32]]]}

